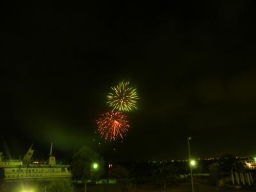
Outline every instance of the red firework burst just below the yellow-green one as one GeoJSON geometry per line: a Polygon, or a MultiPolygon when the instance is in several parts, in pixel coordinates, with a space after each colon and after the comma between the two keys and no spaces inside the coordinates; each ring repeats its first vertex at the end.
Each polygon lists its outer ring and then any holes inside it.
{"type": "Polygon", "coordinates": [[[105,140],[116,140],[118,137],[123,138],[125,132],[130,127],[127,116],[120,111],[109,111],[101,115],[96,121],[98,125],[97,132],[105,140]]]}

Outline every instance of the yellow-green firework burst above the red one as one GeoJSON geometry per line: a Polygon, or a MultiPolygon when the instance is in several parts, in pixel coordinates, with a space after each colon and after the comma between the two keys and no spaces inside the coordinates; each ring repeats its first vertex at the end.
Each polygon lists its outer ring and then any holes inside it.
{"type": "Polygon", "coordinates": [[[132,111],[137,109],[139,99],[136,88],[129,86],[129,82],[121,82],[111,87],[112,92],[108,93],[108,104],[118,111],[132,111]]]}

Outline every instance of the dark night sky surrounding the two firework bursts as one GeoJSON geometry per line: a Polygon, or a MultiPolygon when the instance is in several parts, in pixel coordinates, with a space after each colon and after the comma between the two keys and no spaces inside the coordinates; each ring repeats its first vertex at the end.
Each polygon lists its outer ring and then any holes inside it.
{"type": "Polygon", "coordinates": [[[256,156],[253,1],[81,2],[6,5],[4,154],[34,143],[46,155],[53,141],[57,157],[88,145],[106,159],[184,159],[193,136],[194,157],[256,156]],[[138,110],[123,143],[104,143],[95,120],[120,81],[138,110]]]}

